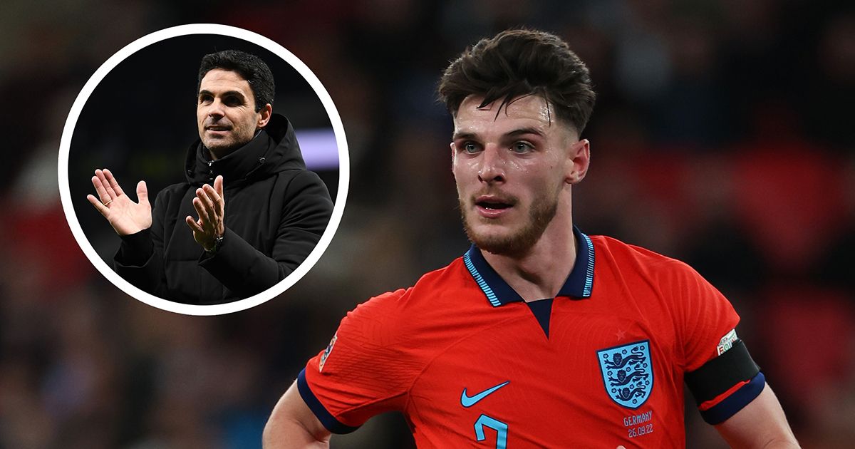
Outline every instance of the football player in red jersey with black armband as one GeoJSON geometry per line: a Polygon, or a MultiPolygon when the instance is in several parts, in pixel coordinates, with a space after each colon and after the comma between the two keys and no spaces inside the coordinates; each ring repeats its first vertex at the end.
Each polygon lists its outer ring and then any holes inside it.
{"type": "Polygon", "coordinates": [[[473,245],[351,311],[275,406],[266,448],[326,447],[390,410],[420,447],[684,447],[684,382],[731,446],[798,447],[720,292],[574,226],[594,93],[567,44],[483,39],[439,96],[473,245]]]}

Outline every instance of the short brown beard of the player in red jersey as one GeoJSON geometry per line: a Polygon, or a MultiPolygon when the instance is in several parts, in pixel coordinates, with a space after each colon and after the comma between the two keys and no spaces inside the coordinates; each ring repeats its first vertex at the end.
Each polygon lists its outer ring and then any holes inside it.
{"type": "Polygon", "coordinates": [[[471,226],[469,218],[478,220],[477,216],[472,212],[471,208],[466,207],[463,199],[458,198],[460,203],[461,216],[463,219],[463,230],[469,241],[484,251],[492,252],[500,256],[521,257],[525,255],[535,243],[540,239],[540,236],[549,226],[552,218],[558,210],[558,195],[553,198],[541,196],[534,198],[531,209],[528,211],[528,222],[522,229],[518,229],[507,235],[487,236],[479,235],[471,226]]]}

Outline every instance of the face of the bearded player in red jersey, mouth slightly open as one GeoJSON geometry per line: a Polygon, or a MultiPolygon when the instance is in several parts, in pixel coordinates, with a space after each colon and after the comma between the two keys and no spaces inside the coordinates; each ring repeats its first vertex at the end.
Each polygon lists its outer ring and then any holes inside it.
{"type": "Polygon", "coordinates": [[[587,141],[538,95],[516,98],[498,116],[501,101],[479,109],[482,100],[467,97],[454,119],[452,171],[463,227],[481,249],[518,256],[540,239],[562,192],[581,179],[573,154],[580,145],[587,151],[587,141]]]}

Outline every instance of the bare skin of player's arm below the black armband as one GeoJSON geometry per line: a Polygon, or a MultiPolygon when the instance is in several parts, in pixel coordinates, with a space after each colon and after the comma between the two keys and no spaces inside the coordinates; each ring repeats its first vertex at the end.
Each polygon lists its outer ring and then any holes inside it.
{"type": "Polygon", "coordinates": [[[728,445],[735,448],[793,448],[799,447],[781,404],[769,384],[760,395],[736,412],[733,417],[717,424],[716,430],[728,445]]]}

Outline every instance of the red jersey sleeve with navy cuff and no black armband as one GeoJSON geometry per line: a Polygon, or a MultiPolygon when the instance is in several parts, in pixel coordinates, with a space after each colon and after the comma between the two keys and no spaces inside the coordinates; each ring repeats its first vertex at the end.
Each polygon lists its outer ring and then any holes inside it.
{"type": "Polygon", "coordinates": [[[348,433],[369,417],[404,409],[423,365],[408,350],[405,300],[398,290],[357,306],[298,375],[300,395],[330,432],[348,433]]]}

